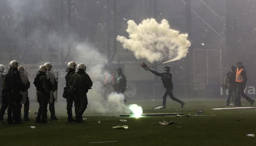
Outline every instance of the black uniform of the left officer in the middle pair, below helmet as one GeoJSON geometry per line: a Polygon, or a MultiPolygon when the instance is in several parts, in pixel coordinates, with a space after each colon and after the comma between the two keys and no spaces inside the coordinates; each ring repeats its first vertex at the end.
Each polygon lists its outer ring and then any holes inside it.
{"type": "Polygon", "coordinates": [[[50,99],[50,81],[47,80],[46,73],[38,71],[34,84],[37,88],[37,101],[39,103],[36,122],[47,123],[47,104],[50,99]]]}

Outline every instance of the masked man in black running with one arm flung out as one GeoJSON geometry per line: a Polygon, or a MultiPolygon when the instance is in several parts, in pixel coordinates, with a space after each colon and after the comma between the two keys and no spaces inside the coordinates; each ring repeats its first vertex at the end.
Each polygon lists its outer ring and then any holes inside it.
{"type": "Polygon", "coordinates": [[[161,77],[162,79],[162,82],[163,82],[163,85],[165,87],[165,92],[163,93],[163,101],[162,101],[162,105],[163,105],[163,108],[165,108],[166,106],[166,97],[169,95],[170,98],[178,103],[181,104],[181,107],[183,107],[183,105],[185,104],[183,101],[177,99],[176,97],[174,97],[173,95],[173,82],[172,82],[172,74],[169,72],[170,71],[170,68],[166,69],[167,67],[165,67],[165,72],[163,73],[158,73],[154,70],[150,70],[153,74],[161,77]]]}

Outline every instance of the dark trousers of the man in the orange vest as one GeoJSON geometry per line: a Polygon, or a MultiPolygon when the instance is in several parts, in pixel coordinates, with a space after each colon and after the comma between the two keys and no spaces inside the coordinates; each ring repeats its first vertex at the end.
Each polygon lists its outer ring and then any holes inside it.
{"type": "Polygon", "coordinates": [[[253,100],[248,97],[245,93],[244,93],[244,88],[243,88],[243,84],[242,83],[237,83],[237,91],[236,91],[236,99],[234,101],[234,105],[241,105],[241,95],[242,97],[244,97],[248,102],[252,102],[253,100]]]}

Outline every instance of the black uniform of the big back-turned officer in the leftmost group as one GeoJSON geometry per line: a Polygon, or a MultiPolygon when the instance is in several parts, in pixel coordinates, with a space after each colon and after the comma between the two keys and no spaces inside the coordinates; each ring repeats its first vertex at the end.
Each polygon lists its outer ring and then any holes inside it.
{"type": "Polygon", "coordinates": [[[12,113],[14,114],[15,123],[21,123],[21,103],[22,96],[20,91],[23,90],[23,84],[20,79],[20,73],[18,68],[11,68],[4,76],[3,80],[3,92],[7,95],[8,101],[8,123],[12,122],[12,113]]]}

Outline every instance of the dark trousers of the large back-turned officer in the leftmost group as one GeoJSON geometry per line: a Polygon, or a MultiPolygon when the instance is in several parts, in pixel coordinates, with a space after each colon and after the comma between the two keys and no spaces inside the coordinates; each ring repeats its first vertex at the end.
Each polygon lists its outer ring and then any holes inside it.
{"type": "Polygon", "coordinates": [[[20,104],[21,96],[19,94],[19,91],[16,91],[15,89],[11,89],[8,95],[8,122],[12,122],[12,114],[14,115],[14,121],[15,123],[20,122],[21,120],[21,107],[20,104]]]}

